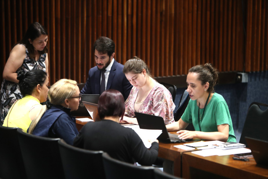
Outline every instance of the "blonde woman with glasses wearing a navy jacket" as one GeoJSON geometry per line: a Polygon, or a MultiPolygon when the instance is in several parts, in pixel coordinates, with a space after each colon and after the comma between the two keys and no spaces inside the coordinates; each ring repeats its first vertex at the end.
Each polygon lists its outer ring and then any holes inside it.
{"type": "Polygon", "coordinates": [[[40,120],[34,120],[29,127],[29,133],[51,138],[61,138],[67,144],[72,145],[78,134],[75,117],[70,115],[71,111],[78,109],[81,95],[76,81],[60,79],[54,83],[49,91],[47,103],[48,110],[45,111],[40,120]]]}

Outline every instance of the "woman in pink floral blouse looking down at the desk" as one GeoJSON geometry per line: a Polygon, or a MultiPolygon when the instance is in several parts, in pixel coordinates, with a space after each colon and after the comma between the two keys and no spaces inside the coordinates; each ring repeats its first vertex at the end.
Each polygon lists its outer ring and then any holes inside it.
{"type": "Polygon", "coordinates": [[[138,124],[134,114],[136,111],[161,116],[166,125],[174,122],[175,104],[170,92],[151,77],[148,66],[142,59],[129,59],[124,65],[123,73],[133,85],[125,101],[124,121],[138,124]]]}

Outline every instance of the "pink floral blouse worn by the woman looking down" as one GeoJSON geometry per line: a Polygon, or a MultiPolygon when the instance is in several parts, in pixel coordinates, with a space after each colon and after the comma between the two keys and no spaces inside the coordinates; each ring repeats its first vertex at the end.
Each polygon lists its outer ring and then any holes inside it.
{"type": "MultiPolygon", "coordinates": [[[[136,101],[139,89],[132,87],[129,97],[125,101],[125,116],[135,117],[134,103],[136,101]]],[[[137,112],[150,115],[161,116],[165,120],[165,124],[174,122],[173,111],[175,104],[168,89],[157,83],[147,98],[143,101],[137,112]]]]}

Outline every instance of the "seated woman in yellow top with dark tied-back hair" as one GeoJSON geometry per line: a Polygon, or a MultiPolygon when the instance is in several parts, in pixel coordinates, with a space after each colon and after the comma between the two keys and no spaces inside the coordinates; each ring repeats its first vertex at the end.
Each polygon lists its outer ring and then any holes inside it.
{"type": "Polygon", "coordinates": [[[40,102],[47,100],[48,74],[43,70],[20,71],[17,79],[24,97],[11,106],[3,126],[19,127],[27,132],[32,120],[42,109],[40,102]]]}

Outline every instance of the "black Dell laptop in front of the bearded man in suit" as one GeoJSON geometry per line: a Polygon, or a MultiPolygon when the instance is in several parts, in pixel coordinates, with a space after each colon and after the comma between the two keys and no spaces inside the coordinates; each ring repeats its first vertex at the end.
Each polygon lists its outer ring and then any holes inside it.
{"type": "Polygon", "coordinates": [[[79,102],[78,110],[71,111],[71,115],[73,116],[89,116],[89,112],[84,106],[82,101],[90,102],[93,104],[98,104],[99,94],[82,94],[81,101],[79,102]]]}

